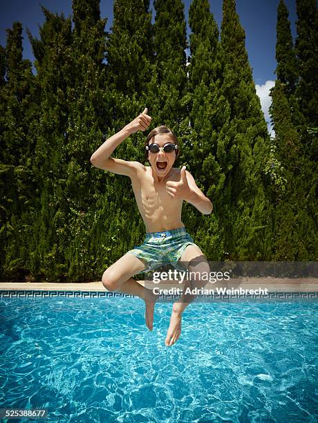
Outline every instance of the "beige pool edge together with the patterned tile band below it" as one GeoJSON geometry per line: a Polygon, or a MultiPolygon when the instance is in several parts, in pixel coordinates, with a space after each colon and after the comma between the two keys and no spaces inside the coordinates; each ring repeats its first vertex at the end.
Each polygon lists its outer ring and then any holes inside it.
{"type": "MultiPolygon", "coordinates": [[[[144,281],[138,281],[144,285],[144,281]]],[[[160,283],[160,288],[169,290],[171,288],[180,288],[176,281],[165,281],[160,283]]],[[[152,284],[154,288],[158,285],[152,284]]],[[[274,279],[274,278],[237,278],[231,279],[228,283],[207,283],[206,287],[212,289],[212,294],[199,294],[198,301],[218,302],[218,301],[289,301],[289,300],[318,300],[318,279],[274,279]],[[225,291],[218,291],[218,288],[225,288],[225,291]],[[263,288],[263,291],[255,291],[263,288]],[[264,289],[267,288],[267,291],[264,289]],[[236,290],[236,291],[234,291],[236,290]],[[252,291],[254,290],[254,291],[252,291]]],[[[46,297],[129,297],[136,298],[131,294],[122,294],[121,292],[111,292],[106,290],[102,281],[88,283],[49,283],[49,282],[1,282],[0,298],[46,298],[46,297]]],[[[160,292],[158,301],[176,301],[178,294],[176,291],[160,292]]]]}

